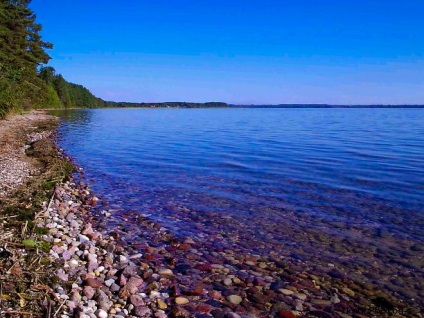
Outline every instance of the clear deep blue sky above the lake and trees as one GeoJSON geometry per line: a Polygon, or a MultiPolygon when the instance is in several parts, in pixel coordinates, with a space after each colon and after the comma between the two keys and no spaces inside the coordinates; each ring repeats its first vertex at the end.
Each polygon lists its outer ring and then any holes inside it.
{"type": "Polygon", "coordinates": [[[33,0],[105,100],[424,104],[422,0],[33,0]]]}

